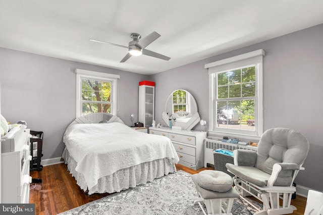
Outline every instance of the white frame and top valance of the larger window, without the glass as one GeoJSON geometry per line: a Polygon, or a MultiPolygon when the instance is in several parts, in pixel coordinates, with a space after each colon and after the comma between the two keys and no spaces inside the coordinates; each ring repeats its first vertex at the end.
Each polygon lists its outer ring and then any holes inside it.
{"type": "Polygon", "coordinates": [[[205,64],[204,68],[208,69],[209,74],[209,134],[214,136],[230,136],[240,139],[259,140],[263,133],[263,82],[262,82],[262,58],[265,55],[263,49],[251,51],[245,54],[237,55],[227,59],[205,64]],[[247,67],[249,65],[257,66],[256,89],[255,89],[255,131],[240,129],[225,129],[215,126],[216,117],[216,95],[217,83],[216,76],[218,73],[235,68],[247,67]]]}

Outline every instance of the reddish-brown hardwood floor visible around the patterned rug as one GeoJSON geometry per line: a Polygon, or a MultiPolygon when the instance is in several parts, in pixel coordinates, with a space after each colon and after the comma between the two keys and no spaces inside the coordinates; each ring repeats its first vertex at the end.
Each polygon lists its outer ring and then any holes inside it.
{"type": "MultiPolygon", "coordinates": [[[[193,170],[182,165],[176,165],[176,167],[177,170],[190,174],[205,170],[205,168],[193,170]]],[[[42,179],[42,183],[30,186],[30,188],[34,186],[30,190],[29,202],[35,203],[35,214],[58,214],[109,195],[107,193],[86,195],[67,171],[65,164],[45,166],[42,171],[31,172],[30,176],[42,179]]],[[[292,200],[292,204],[297,207],[293,214],[304,214],[306,198],[297,196],[292,200]]]]}

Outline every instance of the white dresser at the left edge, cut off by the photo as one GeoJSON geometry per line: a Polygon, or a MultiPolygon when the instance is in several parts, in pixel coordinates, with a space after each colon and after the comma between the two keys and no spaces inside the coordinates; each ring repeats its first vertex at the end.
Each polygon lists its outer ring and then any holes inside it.
{"type": "Polygon", "coordinates": [[[26,127],[2,142],[2,202],[29,203],[30,130],[26,127]]]}

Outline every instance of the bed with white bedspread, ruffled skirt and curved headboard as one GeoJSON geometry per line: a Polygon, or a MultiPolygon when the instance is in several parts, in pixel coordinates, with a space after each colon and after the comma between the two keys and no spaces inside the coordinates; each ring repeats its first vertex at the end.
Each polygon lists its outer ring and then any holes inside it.
{"type": "Polygon", "coordinates": [[[63,137],[62,157],[88,194],[119,192],[176,172],[179,161],[168,137],[135,131],[114,115],[75,119],[63,137]]]}

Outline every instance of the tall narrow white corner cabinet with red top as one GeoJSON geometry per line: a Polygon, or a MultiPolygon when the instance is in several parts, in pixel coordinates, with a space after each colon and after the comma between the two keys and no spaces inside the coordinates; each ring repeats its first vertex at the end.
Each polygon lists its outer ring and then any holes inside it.
{"type": "Polygon", "coordinates": [[[144,127],[151,126],[154,120],[155,109],[155,83],[149,81],[139,82],[139,112],[138,121],[144,127]]]}

